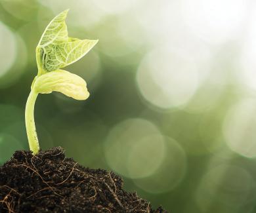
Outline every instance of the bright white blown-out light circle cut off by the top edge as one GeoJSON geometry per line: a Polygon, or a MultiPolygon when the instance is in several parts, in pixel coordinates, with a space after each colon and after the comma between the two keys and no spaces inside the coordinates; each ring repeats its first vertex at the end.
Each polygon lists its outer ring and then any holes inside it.
{"type": "Polygon", "coordinates": [[[182,15],[195,35],[219,44],[238,35],[246,6],[243,0],[183,0],[182,15]]]}

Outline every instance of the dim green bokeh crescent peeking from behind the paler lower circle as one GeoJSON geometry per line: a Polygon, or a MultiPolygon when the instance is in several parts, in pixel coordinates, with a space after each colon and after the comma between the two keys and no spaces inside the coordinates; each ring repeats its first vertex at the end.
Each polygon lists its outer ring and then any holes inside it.
{"type": "Polygon", "coordinates": [[[133,182],[148,193],[165,193],[182,182],[186,165],[186,154],[181,145],[165,137],[165,157],[161,166],[151,176],[134,179],[133,182]]]}

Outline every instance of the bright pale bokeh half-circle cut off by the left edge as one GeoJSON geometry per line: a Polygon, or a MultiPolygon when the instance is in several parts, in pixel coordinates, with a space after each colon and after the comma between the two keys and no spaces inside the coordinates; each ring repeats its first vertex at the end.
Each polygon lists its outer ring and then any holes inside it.
{"type": "Polygon", "coordinates": [[[11,68],[16,58],[16,38],[14,34],[0,22],[0,78],[11,68]]]}

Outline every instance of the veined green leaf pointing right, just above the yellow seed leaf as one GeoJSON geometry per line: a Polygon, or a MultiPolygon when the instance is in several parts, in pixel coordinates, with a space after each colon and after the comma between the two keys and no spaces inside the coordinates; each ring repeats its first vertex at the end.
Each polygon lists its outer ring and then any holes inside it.
{"type": "Polygon", "coordinates": [[[43,60],[43,68],[47,71],[64,68],[82,58],[98,40],[75,40],[54,45],[51,52],[43,60]]]}

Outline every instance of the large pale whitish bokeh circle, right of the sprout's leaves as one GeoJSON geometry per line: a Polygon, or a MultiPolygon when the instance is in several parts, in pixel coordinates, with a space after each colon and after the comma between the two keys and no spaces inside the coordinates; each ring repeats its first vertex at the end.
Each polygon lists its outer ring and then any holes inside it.
{"type": "Polygon", "coordinates": [[[163,109],[186,104],[196,92],[198,81],[196,63],[168,48],[146,54],[137,71],[142,96],[163,109]]]}

